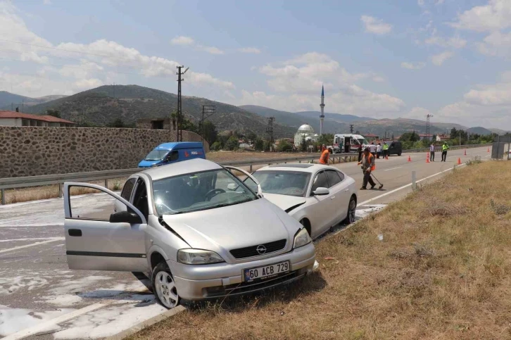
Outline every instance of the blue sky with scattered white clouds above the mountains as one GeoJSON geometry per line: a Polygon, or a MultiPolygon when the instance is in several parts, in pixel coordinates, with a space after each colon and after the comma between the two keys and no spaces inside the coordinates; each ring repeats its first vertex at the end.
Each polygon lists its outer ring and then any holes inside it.
{"type": "Polygon", "coordinates": [[[511,1],[1,1],[0,90],[101,84],[511,129],[511,1]],[[23,43],[23,44],[20,44],[23,43]]]}

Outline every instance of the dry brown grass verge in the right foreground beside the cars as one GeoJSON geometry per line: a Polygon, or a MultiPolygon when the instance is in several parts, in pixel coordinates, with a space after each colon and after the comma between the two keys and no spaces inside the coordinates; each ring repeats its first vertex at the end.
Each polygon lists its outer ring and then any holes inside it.
{"type": "Polygon", "coordinates": [[[511,213],[495,207],[511,201],[511,163],[495,165],[323,239],[320,272],[301,283],[194,307],[132,339],[510,339],[511,213]]]}

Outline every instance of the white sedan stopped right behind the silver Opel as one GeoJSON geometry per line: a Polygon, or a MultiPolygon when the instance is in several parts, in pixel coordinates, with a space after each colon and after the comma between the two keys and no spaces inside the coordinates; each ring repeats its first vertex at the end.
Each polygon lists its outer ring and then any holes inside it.
{"type": "Polygon", "coordinates": [[[252,175],[265,199],[301,222],[313,239],[339,222],[355,221],[355,180],[339,169],[290,163],[269,165],[252,175]]]}

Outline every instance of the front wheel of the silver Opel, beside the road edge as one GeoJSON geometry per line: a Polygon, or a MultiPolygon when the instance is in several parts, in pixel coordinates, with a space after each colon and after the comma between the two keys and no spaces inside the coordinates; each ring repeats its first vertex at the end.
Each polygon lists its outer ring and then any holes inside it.
{"type": "Polygon", "coordinates": [[[177,294],[177,287],[174,282],[174,277],[165,262],[160,262],[153,269],[151,275],[151,284],[153,284],[153,294],[156,296],[156,301],[161,306],[172,309],[179,306],[180,298],[177,294]]]}

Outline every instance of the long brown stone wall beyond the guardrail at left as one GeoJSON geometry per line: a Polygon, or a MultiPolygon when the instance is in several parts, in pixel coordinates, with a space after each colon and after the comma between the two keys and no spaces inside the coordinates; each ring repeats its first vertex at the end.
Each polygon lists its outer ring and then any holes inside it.
{"type": "MultiPolygon", "coordinates": [[[[0,126],[0,178],[137,168],[155,146],[174,140],[172,130],[0,126]]],[[[201,137],[184,131],[183,140],[201,137]]]]}

